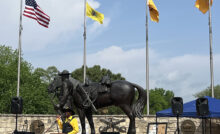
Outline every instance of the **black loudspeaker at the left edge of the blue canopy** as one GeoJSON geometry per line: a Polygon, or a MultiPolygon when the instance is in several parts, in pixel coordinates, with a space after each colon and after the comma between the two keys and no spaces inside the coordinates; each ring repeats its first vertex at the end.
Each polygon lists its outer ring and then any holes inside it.
{"type": "Polygon", "coordinates": [[[183,113],[183,99],[181,97],[174,97],[171,100],[172,112],[174,115],[181,115],[183,113]]]}

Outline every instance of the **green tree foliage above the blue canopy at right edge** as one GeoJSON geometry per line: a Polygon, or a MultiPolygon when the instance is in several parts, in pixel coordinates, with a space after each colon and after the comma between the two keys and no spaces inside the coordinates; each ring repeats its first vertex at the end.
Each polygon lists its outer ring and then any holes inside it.
{"type": "MultiPolygon", "coordinates": [[[[220,85],[216,85],[214,87],[215,98],[220,99],[220,85]]],[[[198,92],[194,95],[196,98],[204,97],[204,96],[212,96],[211,88],[207,87],[206,89],[198,92]]]]}

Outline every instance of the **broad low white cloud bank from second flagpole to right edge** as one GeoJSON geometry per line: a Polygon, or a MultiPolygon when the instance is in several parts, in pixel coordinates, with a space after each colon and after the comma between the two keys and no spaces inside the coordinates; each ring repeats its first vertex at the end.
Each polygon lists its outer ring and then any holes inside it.
{"type": "MultiPolygon", "coordinates": [[[[123,50],[112,46],[88,55],[88,65],[101,65],[121,73],[128,81],[146,87],[145,48],[123,50]]],[[[161,87],[174,91],[189,101],[193,94],[210,85],[209,56],[182,55],[164,58],[150,49],[150,88],[161,87]]],[[[220,84],[220,54],[214,55],[215,83],[220,84]]]]}

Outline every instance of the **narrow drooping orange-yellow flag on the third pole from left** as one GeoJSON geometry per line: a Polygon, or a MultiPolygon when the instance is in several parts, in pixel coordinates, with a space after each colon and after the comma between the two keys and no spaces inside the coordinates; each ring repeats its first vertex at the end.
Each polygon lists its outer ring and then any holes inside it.
{"type": "Polygon", "coordinates": [[[148,6],[149,6],[149,11],[150,11],[150,19],[152,21],[159,22],[159,12],[153,0],[148,0],[148,6]]]}

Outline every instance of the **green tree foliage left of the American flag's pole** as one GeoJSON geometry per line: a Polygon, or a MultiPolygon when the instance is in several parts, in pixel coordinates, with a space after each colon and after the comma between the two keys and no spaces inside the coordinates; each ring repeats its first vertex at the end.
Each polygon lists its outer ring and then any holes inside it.
{"type": "MultiPolygon", "coordinates": [[[[17,82],[17,52],[10,47],[0,46],[0,111],[7,113],[10,109],[10,99],[16,94],[17,82]]],[[[23,66],[23,64],[21,65],[23,66]]]]}

